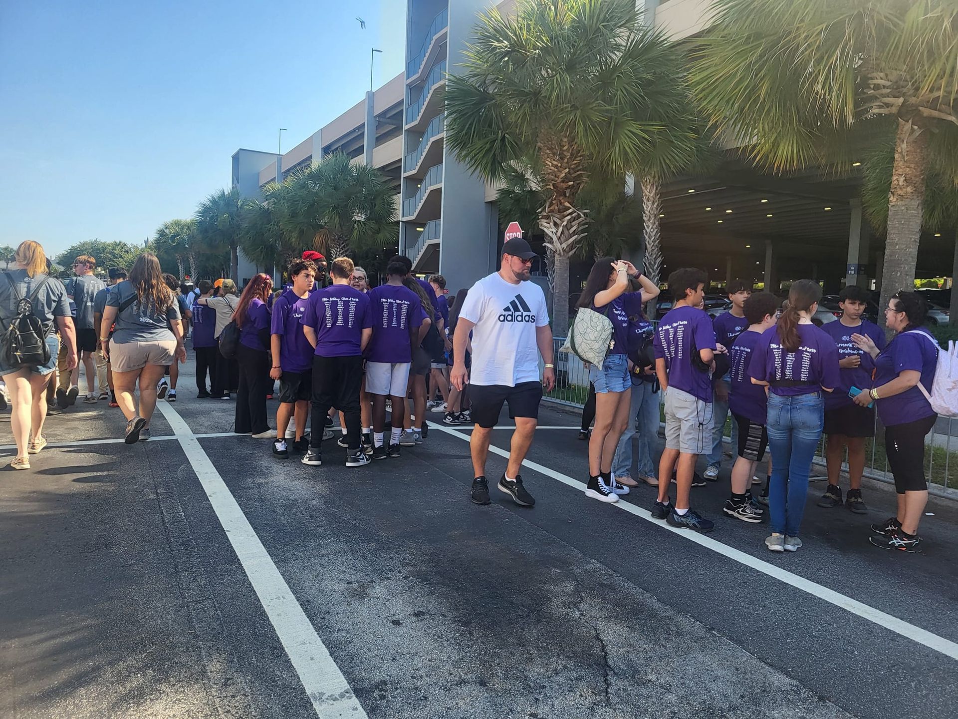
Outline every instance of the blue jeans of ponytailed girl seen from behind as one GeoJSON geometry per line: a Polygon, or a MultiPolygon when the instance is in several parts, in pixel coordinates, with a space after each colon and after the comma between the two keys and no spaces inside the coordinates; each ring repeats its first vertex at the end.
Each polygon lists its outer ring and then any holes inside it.
{"type": "Polygon", "coordinates": [[[809,494],[811,458],[824,425],[825,400],[820,391],[795,397],[768,394],[766,427],[772,451],[768,514],[773,532],[798,536],[809,494]]]}

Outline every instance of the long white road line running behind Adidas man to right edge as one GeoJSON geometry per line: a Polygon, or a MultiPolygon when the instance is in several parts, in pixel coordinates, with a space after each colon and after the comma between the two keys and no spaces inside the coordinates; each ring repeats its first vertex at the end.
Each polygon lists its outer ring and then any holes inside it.
{"type": "MultiPolygon", "coordinates": [[[[462,440],[467,442],[469,441],[468,434],[463,434],[455,429],[447,428],[435,423],[429,424],[431,427],[439,429],[440,431],[444,431],[446,434],[451,434],[453,437],[459,437],[462,440]]],[[[499,456],[509,456],[509,452],[495,447],[494,445],[490,445],[489,451],[498,454],[499,456]]],[[[562,482],[562,484],[567,484],[568,486],[578,489],[582,492],[585,491],[584,482],[573,479],[571,476],[562,475],[561,473],[556,472],[549,467],[532,462],[529,459],[526,459],[522,464],[524,467],[529,467],[530,469],[535,470],[540,475],[550,476],[553,479],[562,482]]],[[[896,634],[900,634],[902,637],[917,641],[919,644],[924,644],[924,646],[928,647],[929,649],[934,649],[936,652],[940,652],[946,657],[950,657],[953,660],[958,660],[958,643],[955,643],[949,639],[939,637],[938,635],[932,634],[926,629],[917,627],[914,624],[909,624],[908,622],[899,619],[897,616],[886,614],[878,609],[875,609],[874,607],[863,604],[852,597],[845,596],[845,594],[842,594],[838,591],[830,590],[828,587],[823,587],[822,585],[812,582],[805,577],[801,577],[798,574],[793,574],[786,569],[776,567],[775,565],[764,562],[761,559],[757,559],[751,554],[743,552],[740,549],[736,549],[734,546],[723,545],[721,542],[717,542],[716,540],[705,535],[691,532],[688,529],[678,529],[673,527],[671,524],[667,524],[666,522],[653,520],[648,510],[637,507],[629,502],[617,501],[611,506],[617,509],[622,509],[629,514],[635,515],[636,517],[640,517],[657,527],[665,529],[666,531],[673,532],[673,534],[676,534],[683,539],[687,539],[689,542],[695,542],[696,545],[702,545],[707,549],[718,552],[722,556],[728,557],[729,559],[734,560],[745,567],[761,571],[763,574],[766,574],[774,579],[778,579],[781,582],[785,582],[787,585],[790,585],[797,590],[807,591],[812,596],[816,596],[819,599],[824,599],[836,607],[841,607],[842,609],[851,612],[854,615],[858,615],[864,619],[875,622],[878,624],[878,626],[889,629],[896,634]]]]}

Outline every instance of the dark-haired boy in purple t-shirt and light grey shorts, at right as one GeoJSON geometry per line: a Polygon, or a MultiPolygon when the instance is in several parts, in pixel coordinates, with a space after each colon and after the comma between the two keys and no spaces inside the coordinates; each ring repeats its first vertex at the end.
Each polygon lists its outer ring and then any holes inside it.
{"type": "Polygon", "coordinates": [[[659,460],[658,499],[652,517],[696,532],[711,532],[715,522],[689,506],[696,455],[712,443],[712,380],[716,335],[709,315],[698,309],[705,295],[705,272],[696,267],[669,275],[675,304],[659,322],[653,347],[655,374],[665,393],[665,450],[659,460]],[[695,355],[695,356],[694,356],[695,355]],[[676,468],[677,464],[677,468],[676,468]],[[669,485],[675,469],[675,504],[669,485]]]}

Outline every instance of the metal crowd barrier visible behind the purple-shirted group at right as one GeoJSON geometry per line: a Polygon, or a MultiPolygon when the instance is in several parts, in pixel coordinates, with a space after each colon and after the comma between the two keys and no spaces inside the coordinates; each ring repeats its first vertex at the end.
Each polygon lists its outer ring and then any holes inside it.
{"type": "MultiPolygon", "coordinates": [[[[565,337],[553,339],[553,357],[556,364],[556,388],[543,399],[558,405],[582,407],[589,393],[589,373],[582,359],[571,353],[559,352],[565,343],[565,337]]],[[[539,359],[541,369],[542,360],[539,359]]],[[[664,415],[660,419],[664,421],[664,415]]],[[[725,441],[731,442],[732,417],[725,422],[725,441]]],[[[812,481],[824,478],[825,435],[822,435],[812,460],[812,481]]],[[[875,418],[875,437],[865,440],[864,475],[882,482],[893,482],[894,477],[888,466],[888,456],[884,450],[884,429],[875,418]]],[[[733,448],[734,454],[734,448],[733,448]]],[[[766,454],[770,456],[770,452],[766,454]]],[[[848,464],[842,464],[842,472],[848,473],[848,464]]],[[[934,429],[924,439],[924,475],[928,479],[932,492],[941,493],[941,488],[958,490],[958,420],[939,415],[934,429]],[[952,458],[952,454],[954,457],[952,458]]]]}

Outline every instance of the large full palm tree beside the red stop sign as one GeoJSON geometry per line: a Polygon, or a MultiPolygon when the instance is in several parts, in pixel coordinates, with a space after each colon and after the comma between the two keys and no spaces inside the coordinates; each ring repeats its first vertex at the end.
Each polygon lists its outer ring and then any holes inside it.
{"type": "MultiPolygon", "coordinates": [[[[568,329],[569,258],[586,236],[579,196],[596,172],[641,167],[685,105],[677,51],[634,0],[522,0],[479,15],[462,75],[445,90],[445,137],[490,181],[541,178],[538,224],[555,259],[553,327],[568,329]]],[[[623,180],[624,181],[624,180],[623,180]]]]}

